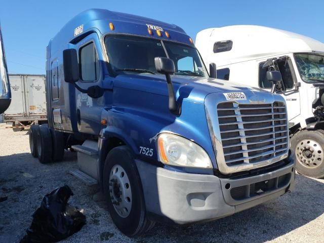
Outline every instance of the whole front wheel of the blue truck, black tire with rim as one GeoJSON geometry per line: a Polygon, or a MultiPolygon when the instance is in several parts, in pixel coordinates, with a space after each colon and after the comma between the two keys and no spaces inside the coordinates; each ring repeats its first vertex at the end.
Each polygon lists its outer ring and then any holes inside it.
{"type": "Polygon", "coordinates": [[[146,217],[141,179],[127,146],[115,147],[108,153],[103,189],[112,221],[121,232],[136,236],[154,226],[146,217]]]}

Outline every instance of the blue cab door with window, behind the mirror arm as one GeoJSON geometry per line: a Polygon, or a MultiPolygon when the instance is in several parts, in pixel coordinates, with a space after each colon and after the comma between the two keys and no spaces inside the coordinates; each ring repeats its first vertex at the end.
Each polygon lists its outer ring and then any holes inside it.
{"type": "MultiPolygon", "coordinates": [[[[103,56],[97,33],[92,33],[76,44],[79,63],[79,80],[76,85],[87,90],[91,86],[102,87],[103,56]]],[[[91,98],[75,89],[76,123],[78,132],[98,135],[104,96],[91,98]]]]}

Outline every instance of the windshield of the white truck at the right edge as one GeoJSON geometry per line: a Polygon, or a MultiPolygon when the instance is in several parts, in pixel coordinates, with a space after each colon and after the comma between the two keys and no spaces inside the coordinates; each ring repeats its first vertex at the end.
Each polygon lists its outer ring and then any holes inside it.
{"type": "Polygon", "coordinates": [[[324,82],[324,56],[295,54],[300,76],[306,83],[324,82]]]}

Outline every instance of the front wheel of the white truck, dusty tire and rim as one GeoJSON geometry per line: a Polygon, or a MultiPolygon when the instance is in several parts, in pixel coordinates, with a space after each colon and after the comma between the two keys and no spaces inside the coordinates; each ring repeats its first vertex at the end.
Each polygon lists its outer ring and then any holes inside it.
{"type": "Polygon", "coordinates": [[[298,173],[324,177],[324,131],[303,130],[291,139],[291,156],[295,158],[298,173]]]}

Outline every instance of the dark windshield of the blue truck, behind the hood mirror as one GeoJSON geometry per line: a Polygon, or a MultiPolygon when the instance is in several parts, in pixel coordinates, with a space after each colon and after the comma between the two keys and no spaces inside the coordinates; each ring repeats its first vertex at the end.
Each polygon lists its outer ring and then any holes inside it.
{"type": "Polygon", "coordinates": [[[208,76],[197,50],[185,44],[120,34],[107,35],[104,42],[109,64],[116,73],[157,74],[154,57],[168,54],[174,61],[176,75],[208,76]]]}

